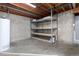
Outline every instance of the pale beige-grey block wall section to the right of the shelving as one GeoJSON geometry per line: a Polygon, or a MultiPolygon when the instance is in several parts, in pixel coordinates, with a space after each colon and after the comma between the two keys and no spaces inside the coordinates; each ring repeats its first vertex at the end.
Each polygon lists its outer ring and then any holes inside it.
{"type": "Polygon", "coordinates": [[[64,12],[58,14],[58,40],[61,43],[73,43],[73,22],[74,14],[71,12],[64,12]]]}

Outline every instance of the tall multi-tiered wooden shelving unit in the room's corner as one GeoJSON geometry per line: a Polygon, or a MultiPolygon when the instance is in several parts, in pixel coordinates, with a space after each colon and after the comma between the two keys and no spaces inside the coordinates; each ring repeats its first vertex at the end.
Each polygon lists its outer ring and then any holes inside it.
{"type": "Polygon", "coordinates": [[[34,39],[43,40],[47,42],[52,36],[55,36],[57,40],[57,34],[58,34],[57,16],[56,15],[52,16],[52,20],[51,16],[34,20],[32,21],[31,29],[32,29],[32,38],[34,39]]]}

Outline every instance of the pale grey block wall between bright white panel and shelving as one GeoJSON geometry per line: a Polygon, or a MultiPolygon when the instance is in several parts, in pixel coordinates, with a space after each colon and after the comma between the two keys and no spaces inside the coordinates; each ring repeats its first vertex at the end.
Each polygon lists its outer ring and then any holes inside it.
{"type": "MultiPolygon", "coordinates": [[[[6,13],[0,12],[0,17],[6,15],[6,13]]],[[[30,18],[9,14],[9,19],[11,22],[11,42],[28,39],[31,37],[30,18]]]]}

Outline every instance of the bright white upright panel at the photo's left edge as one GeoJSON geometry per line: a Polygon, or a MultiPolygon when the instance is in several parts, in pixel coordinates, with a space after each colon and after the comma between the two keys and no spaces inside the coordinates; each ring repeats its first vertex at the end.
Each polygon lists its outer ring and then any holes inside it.
{"type": "Polygon", "coordinates": [[[10,48],[10,20],[0,18],[0,52],[10,48]]]}

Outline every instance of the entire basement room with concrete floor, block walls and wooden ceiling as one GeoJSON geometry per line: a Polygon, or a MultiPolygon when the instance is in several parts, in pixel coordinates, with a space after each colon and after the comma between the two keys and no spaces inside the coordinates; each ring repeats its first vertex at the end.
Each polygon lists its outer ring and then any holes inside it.
{"type": "Polygon", "coordinates": [[[79,3],[0,3],[0,56],[79,56],[79,3]]]}

